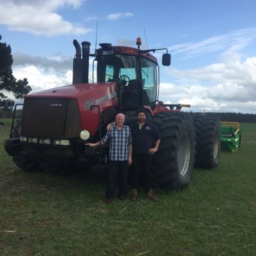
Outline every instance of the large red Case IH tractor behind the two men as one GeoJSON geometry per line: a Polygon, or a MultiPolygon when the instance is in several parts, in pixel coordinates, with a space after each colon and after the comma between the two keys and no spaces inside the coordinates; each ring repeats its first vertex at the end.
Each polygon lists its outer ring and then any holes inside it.
{"type": "Polygon", "coordinates": [[[168,66],[171,56],[167,49],[141,50],[138,38],[138,48],[100,44],[95,54],[90,54],[89,42],[82,43],[82,50],[76,40],[73,43],[73,84],[27,95],[18,127],[12,125],[5,149],[19,168],[54,170],[72,166],[74,170],[74,164],[106,163],[108,147],[91,148],[84,143],[99,141],[116,113],[134,119],[141,107],[147,109],[147,118],[161,134],[152,166],[157,186],[184,188],[194,165],[218,165],[218,118],[199,116],[193,120],[189,113],[180,111],[182,105],[158,100],[159,66],[149,52],[165,50],[162,63],[168,66]],[[93,73],[97,65],[97,83],[88,83],[90,57],[94,57],[93,73]]]}

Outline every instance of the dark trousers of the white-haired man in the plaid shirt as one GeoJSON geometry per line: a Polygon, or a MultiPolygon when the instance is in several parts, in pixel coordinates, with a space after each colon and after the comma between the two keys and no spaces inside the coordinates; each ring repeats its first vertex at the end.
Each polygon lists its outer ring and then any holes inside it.
{"type": "Polygon", "coordinates": [[[118,183],[118,195],[127,195],[127,176],[129,164],[126,161],[109,160],[108,178],[106,184],[106,197],[112,199],[115,196],[116,182],[118,183]]]}

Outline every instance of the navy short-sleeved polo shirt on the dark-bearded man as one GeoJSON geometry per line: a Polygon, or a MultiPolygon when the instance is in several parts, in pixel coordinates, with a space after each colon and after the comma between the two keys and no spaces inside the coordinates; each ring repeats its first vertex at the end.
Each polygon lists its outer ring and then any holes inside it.
{"type": "Polygon", "coordinates": [[[127,122],[132,131],[132,154],[149,154],[148,150],[155,147],[156,140],[160,139],[159,131],[150,122],[139,127],[138,121],[127,122]]]}

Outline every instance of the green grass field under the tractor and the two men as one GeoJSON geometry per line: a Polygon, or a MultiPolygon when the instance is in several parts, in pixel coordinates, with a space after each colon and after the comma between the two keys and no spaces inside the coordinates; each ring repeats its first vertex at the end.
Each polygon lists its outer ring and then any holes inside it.
{"type": "Polygon", "coordinates": [[[0,255],[256,255],[256,124],[236,153],[195,169],[188,188],[140,190],[138,202],[104,202],[106,173],[24,172],[4,151],[0,120],[0,255]]]}

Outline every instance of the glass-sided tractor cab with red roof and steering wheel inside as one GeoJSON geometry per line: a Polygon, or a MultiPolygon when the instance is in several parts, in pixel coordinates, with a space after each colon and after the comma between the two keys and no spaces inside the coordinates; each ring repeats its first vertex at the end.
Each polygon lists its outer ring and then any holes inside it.
{"type": "Polygon", "coordinates": [[[154,109],[159,91],[159,66],[157,59],[148,53],[150,50],[111,44],[100,44],[100,47],[95,54],[97,82],[118,83],[123,110],[140,106],[154,109]]]}

